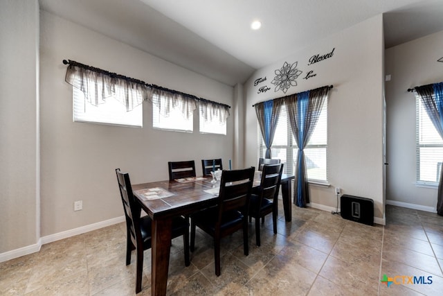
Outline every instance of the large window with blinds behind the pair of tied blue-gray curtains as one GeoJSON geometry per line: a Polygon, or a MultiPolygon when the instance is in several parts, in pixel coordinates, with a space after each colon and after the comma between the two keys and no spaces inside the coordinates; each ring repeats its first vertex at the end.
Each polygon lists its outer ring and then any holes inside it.
{"type": "MultiPolygon", "coordinates": [[[[264,145],[262,133],[258,128],[258,154],[264,157],[266,146],[264,145]]],[[[271,146],[272,158],[280,159],[284,164],[287,174],[295,173],[298,146],[293,137],[291,123],[287,115],[286,106],[282,106],[275,130],[274,140],[271,146]]],[[[327,182],[327,101],[318,119],[316,128],[305,148],[305,159],[307,166],[307,177],[309,182],[327,182]]]]}

